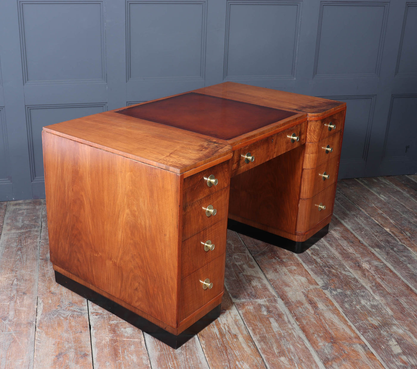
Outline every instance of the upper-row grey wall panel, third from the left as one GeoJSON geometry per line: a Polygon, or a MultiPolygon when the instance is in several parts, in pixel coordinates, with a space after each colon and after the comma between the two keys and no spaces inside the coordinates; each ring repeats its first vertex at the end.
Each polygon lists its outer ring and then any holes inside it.
{"type": "Polygon", "coordinates": [[[301,2],[229,1],[225,80],[296,75],[301,2]]]}

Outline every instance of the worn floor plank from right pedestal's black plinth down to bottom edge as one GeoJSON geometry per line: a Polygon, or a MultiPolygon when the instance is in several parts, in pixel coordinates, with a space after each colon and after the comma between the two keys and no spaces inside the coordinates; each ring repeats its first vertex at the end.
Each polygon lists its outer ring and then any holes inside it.
{"type": "Polygon", "coordinates": [[[295,254],[241,237],[326,368],[383,368],[295,254]]]}

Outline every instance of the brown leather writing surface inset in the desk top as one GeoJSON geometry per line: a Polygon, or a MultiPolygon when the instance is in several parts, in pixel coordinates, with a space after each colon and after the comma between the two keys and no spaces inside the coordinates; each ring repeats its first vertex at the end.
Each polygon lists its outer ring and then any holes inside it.
{"type": "Polygon", "coordinates": [[[190,92],[117,113],[229,140],[295,115],[294,112],[190,92]]]}

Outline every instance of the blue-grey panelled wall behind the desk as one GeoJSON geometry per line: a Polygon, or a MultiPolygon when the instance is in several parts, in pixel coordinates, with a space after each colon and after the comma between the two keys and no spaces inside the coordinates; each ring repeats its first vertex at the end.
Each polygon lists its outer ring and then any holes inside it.
{"type": "Polygon", "coordinates": [[[0,200],[41,127],[223,81],[347,102],[340,177],[417,172],[417,2],[0,1],[0,200]]]}

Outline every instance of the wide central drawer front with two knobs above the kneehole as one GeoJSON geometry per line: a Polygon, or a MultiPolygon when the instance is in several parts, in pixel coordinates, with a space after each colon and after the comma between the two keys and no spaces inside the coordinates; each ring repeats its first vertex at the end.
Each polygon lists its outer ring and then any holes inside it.
{"type": "Polygon", "coordinates": [[[288,130],[276,133],[255,142],[251,145],[242,147],[233,153],[233,165],[231,176],[245,172],[256,165],[262,164],[273,159],[284,152],[303,145],[306,141],[306,122],[296,125],[288,130]],[[295,133],[299,137],[299,141],[291,142],[291,135],[295,133]],[[253,161],[245,162],[245,155],[250,152],[254,157],[253,161]]]}

